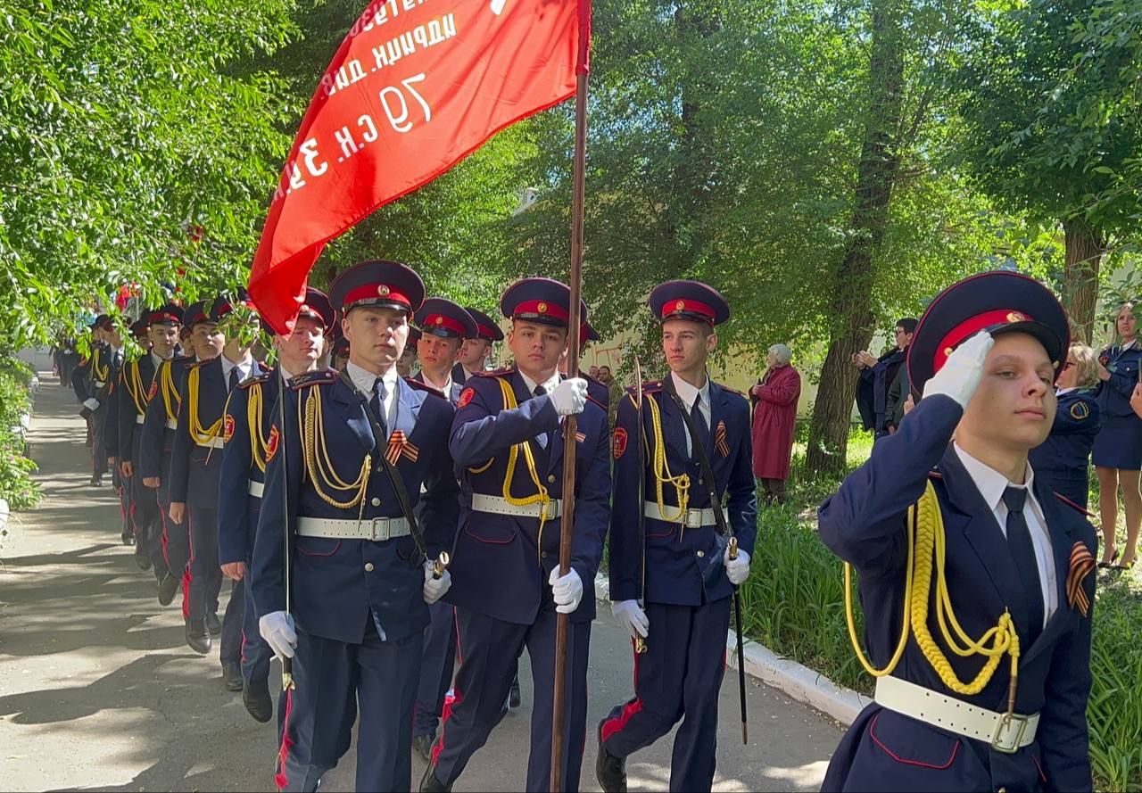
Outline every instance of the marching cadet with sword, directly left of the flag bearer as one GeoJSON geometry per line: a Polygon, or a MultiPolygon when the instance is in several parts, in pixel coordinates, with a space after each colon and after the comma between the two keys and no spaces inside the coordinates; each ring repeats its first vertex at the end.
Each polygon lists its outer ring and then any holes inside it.
{"type": "Polygon", "coordinates": [[[365,261],[337,276],[330,298],[349,363],[286,390],[254,545],[259,632],[293,658],[296,680],[276,782],[316,788],[349,745],[355,698],[356,788],[408,791],[428,605],[450,584],[433,560],[451,547],[458,518],[453,411],[395,369],[424,301],[420,276],[365,261]]]}

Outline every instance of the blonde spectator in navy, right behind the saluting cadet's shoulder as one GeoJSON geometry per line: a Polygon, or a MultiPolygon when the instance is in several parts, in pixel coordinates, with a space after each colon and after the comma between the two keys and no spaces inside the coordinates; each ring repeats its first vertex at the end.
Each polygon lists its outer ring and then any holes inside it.
{"type": "Polygon", "coordinates": [[[1091,447],[1099,434],[1099,359],[1086,345],[1075,343],[1067,351],[1055,381],[1059,410],[1051,435],[1031,450],[1029,460],[1035,476],[1048,489],[1086,509],[1089,494],[1091,447]]]}

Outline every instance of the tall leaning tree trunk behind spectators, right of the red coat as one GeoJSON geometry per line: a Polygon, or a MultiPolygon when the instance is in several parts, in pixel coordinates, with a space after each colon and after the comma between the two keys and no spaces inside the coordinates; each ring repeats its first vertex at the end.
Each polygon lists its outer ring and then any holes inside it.
{"type": "Polygon", "coordinates": [[[858,167],[853,234],[833,273],[837,325],[830,335],[809,431],[806,466],[814,474],[844,471],[858,379],[851,357],[872,337],[874,254],[884,238],[900,165],[893,132],[900,128],[903,92],[902,6],[900,0],[880,0],[872,6],[868,122],[858,167]]]}

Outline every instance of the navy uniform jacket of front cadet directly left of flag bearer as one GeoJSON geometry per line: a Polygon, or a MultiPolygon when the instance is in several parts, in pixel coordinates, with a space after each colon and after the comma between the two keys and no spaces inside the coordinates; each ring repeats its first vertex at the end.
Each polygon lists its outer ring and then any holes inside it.
{"type": "MultiPolygon", "coordinates": [[[[428,556],[435,558],[451,544],[456,532],[457,487],[452,458],[448,453],[452,406],[439,391],[425,390],[407,380],[397,382],[401,390],[396,421],[389,429],[391,434],[402,430],[411,446],[399,458],[396,470],[411,505],[424,505],[418,515],[428,556]]],[[[371,609],[384,631],[383,638],[397,641],[419,633],[428,624],[428,606],[424,601],[424,557],[417,552],[411,536],[372,542],[293,534],[298,516],[356,520],[360,515],[368,523],[371,518],[403,515],[377,458],[364,408],[349,387],[328,371],[299,375],[286,391],[284,399],[284,430],[279,427],[276,412],[272,419],[284,444],[268,455],[266,488],[254,543],[251,591],[258,616],[286,609],[284,474],[289,482],[290,547],[293,551],[291,606],[298,628],[327,639],[361,644],[371,609]],[[363,511],[359,507],[340,509],[327,503],[314,489],[312,478],[303,477],[298,406],[300,404],[304,410],[319,395],[324,443],[337,476],[352,483],[357,479],[364,458],[371,455],[373,459],[363,511]]],[[[381,446],[387,445],[383,443],[381,446]]],[[[320,455],[320,447],[316,451],[320,455]]],[[[335,493],[343,502],[355,495],[331,491],[328,485],[323,485],[323,489],[335,493]]]]}

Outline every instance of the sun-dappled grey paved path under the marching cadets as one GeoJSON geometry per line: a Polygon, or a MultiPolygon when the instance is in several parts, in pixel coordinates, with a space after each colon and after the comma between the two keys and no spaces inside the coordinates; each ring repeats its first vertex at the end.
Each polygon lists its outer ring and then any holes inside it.
{"type": "MultiPolygon", "coordinates": [[[[202,657],[183,640],[178,600],[155,599],[154,580],[119,542],[110,485],[88,486],[89,456],[74,395],[41,373],[31,453],[40,505],[14,516],[0,545],[0,768],[8,790],[268,791],[274,729],[226,693],[217,649],[202,657]]],[[[224,593],[228,586],[224,586],[224,593]]],[[[217,647],[217,644],[216,644],[217,647]]],[[[275,666],[276,670],[276,666],[275,666]]],[[[530,669],[523,707],[507,715],[457,791],[523,785],[530,669]]],[[[629,642],[609,616],[592,637],[588,729],[630,696],[629,642]]],[[[276,675],[273,675],[276,677],[276,675]]],[[[278,685],[278,681],[274,681],[278,685]]],[[[817,790],[841,738],[828,718],[750,682],[750,745],[742,746],[738,680],[722,687],[716,791],[817,790]]],[[[322,791],[353,788],[354,753],[322,791]]],[[[666,790],[670,739],[628,762],[630,790],[666,790]]],[[[581,788],[597,791],[595,746],[581,788]]],[[[423,764],[413,762],[413,785],[423,764]]]]}

